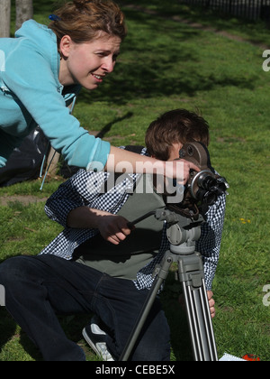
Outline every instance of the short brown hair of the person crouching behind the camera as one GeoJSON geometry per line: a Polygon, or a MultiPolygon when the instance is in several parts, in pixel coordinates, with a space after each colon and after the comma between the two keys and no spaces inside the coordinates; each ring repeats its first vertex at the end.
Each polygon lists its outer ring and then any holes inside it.
{"type": "Polygon", "coordinates": [[[175,109],[153,121],[146,133],[148,153],[158,160],[167,161],[173,143],[193,141],[209,145],[209,125],[201,116],[186,109],[175,109]]]}

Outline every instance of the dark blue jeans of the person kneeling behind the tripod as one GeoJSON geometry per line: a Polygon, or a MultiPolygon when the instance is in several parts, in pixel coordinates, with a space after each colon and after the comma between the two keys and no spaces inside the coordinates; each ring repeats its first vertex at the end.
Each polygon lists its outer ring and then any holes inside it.
{"type": "MultiPolygon", "coordinates": [[[[95,313],[108,329],[107,347],[119,359],[148,291],[81,263],[54,255],[20,256],[0,264],[5,305],[46,361],[84,361],[81,347],[70,341],[57,315],[95,313]]],[[[170,331],[156,300],[133,361],[169,361],[170,331]]]]}

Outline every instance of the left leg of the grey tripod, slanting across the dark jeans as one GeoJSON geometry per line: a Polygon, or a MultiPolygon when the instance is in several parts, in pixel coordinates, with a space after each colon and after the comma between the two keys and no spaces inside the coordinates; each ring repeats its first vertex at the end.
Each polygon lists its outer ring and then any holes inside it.
{"type": "Polygon", "coordinates": [[[130,357],[130,354],[139,338],[139,334],[148,318],[148,314],[154,304],[154,301],[156,300],[157,293],[162,285],[162,283],[166,280],[166,277],[169,273],[169,268],[171,264],[173,263],[173,260],[170,256],[165,255],[165,258],[163,260],[161,269],[159,269],[159,272],[157,273],[157,277],[155,281],[152,284],[152,287],[149,291],[147,300],[145,301],[142,310],[139,314],[139,318],[137,319],[137,322],[131,332],[130,338],[128,340],[128,343],[126,347],[124,348],[120,361],[127,361],[130,357]]]}

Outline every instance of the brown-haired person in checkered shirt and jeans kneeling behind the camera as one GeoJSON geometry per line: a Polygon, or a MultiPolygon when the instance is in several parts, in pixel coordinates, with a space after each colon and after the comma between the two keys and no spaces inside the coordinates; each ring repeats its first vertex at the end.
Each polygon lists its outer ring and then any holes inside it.
{"type": "MultiPolygon", "coordinates": [[[[147,149],[140,153],[173,161],[182,145],[194,140],[208,144],[207,123],[178,109],[149,126],[147,149]]],[[[44,360],[85,360],[83,350],[65,336],[56,313],[88,312],[96,317],[84,329],[85,339],[104,360],[118,360],[147,299],[154,268],[169,248],[166,226],[154,217],[135,230],[128,225],[165,206],[153,176],[129,174],[115,181],[110,175],[81,170],[62,184],[48,200],[46,212],[64,231],[39,256],[15,257],[0,265],[6,308],[44,360]]],[[[210,299],[224,212],[225,196],[209,208],[196,246],[210,299]]],[[[213,300],[210,307],[213,312],[213,300]]],[[[169,340],[166,317],[156,299],[131,359],[169,361],[169,340]]]]}

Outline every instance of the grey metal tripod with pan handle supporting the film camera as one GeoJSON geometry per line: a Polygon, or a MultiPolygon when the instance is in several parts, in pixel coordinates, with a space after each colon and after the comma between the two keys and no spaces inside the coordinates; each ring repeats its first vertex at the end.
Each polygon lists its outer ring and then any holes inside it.
{"type": "Polygon", "coordinates": [[[199,215],[198,220],[194,221],[165,208],[157,209],[156,212],[140,217],[132,225],[153,214],[155,214],[157,220],[166,221],[167,223],[166,233],[170,242],[170,250],[166,251],[162,263],[157,265],[153,273],[154,276],[156,275],[156,279],[131,332],[130,339],[123,350],[120,361],[129,359],[157,293],[162,283],[166,281],[173,263],[178,265],[175,279],[181,282],[183,287],[194,360],[201,362],[218,361],[211,313],[205,289],[202,257],[201,254],[195,252],[196,241],[201,236],[203,218],[199,215]]]}

